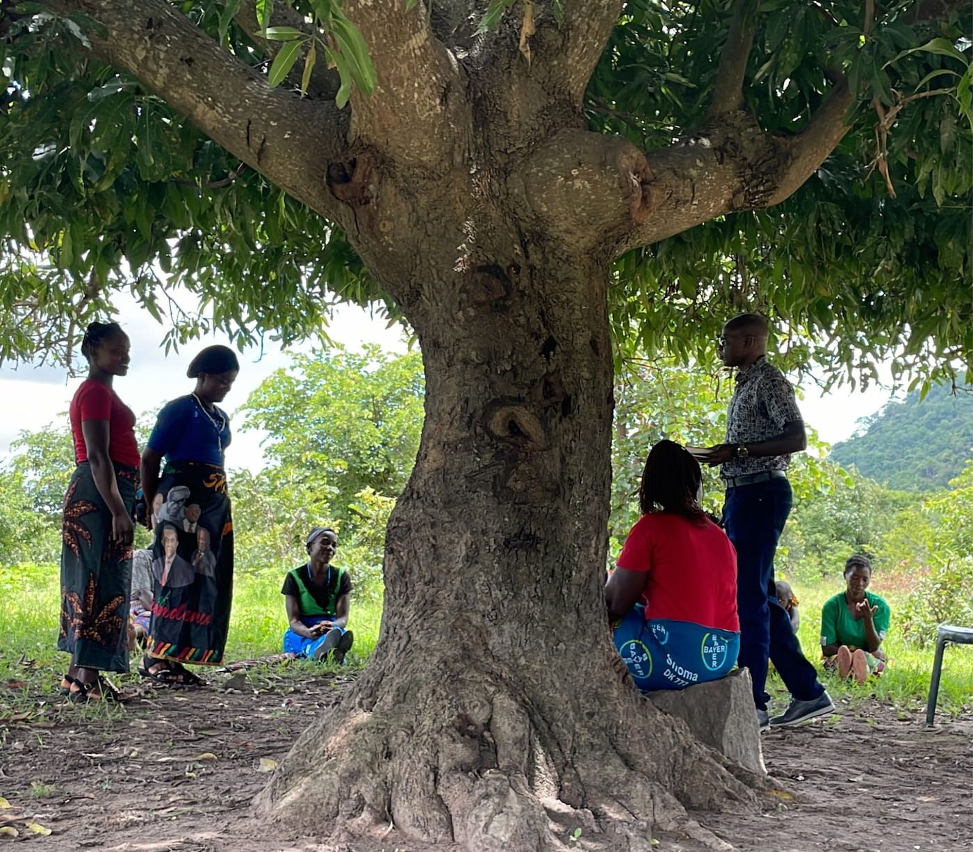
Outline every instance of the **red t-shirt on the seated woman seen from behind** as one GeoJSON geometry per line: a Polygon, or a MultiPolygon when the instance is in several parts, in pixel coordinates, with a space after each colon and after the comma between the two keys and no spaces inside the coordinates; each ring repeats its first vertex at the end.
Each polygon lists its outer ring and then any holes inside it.
{"type": "Polygon", "coordinates": [[[708,518],[690,521],[669,512],[642,515],[625,539],[617,564],[649,574],[642,593],[646,618],[739,631],[737,551],[708,518]]]}

